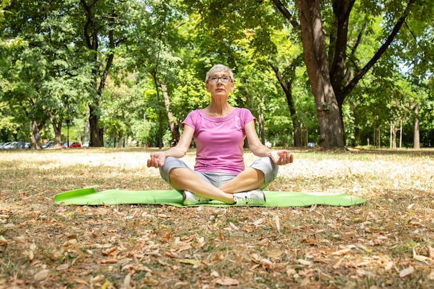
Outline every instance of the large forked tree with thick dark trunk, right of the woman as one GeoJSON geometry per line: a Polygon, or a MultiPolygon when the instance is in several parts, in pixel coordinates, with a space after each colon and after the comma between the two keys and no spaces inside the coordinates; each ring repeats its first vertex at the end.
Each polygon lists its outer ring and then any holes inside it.
{"type": "MultiPolygon", "coordinates": [[[[273,0],[277,8],[288,19],[294,21],[293,15],[286,10],[279,0],[273,0]],[[286,12],[285,12],[286,11],[286,12]]],[[[309,73],[309,80],[313,88],[313,95],[317,106],[318,120],[320,122],[321,141],[324,148],[344,148],[344,129],[342,121],[342,104],[359,80],[365,76],[374,64],[379,60],[390,46],[404,21],[410,15],[416,0],[408,3],[363,3],[363,8],[374,15],[380,13],[381,7],[386,8],[385,19],[390,19],[385,25],[388,30],[383,44],[372,55],[362,68],[351,65],[347,58],[349,16],[354,8],[355,1],[332,1],[333,17],[322,15],[329,6],[320,1],[297,1],[299,19],[302,29],[302,43],[304,47],[304,60],[309,73]],[[329,19],[324,26],[323,19],[329,19]],[[390,26],[392,23],[392,26],[390,26]],[[327,49],[326,33],[329,35],[329,47],[327,49]],[[328,54],[327,54],[328,51],[328,54]],[[350,77],[352,77],[350,79],[350,77]]],[[[424,3],[424,5],[431,5],[424,3]]],[[[369,19],[369,17],[367,17],[369,19]]],[[[424,19],[426,21],[426,19],[424,19]]],[[[426,23],[426,22],[424,22],[426,23]]],[[[361,29],[363,33],[364,28],[361,29]]],[[[361,35],[358,39],[360,39],[361,35]]],[[[353,49],[357,48],[357,43],[353,49]]]]}

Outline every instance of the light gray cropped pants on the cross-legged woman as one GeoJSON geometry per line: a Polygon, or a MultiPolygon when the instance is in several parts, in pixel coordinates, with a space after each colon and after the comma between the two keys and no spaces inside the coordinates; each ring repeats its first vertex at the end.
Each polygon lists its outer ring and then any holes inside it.
{"type": "MultiPolygon", "coordinates": [[[[189,168],[184,161],[181,159],[177,159],[175,157],[167,157],[166,161],[164,161],[164,165],[159,168],[159,173],[162,175],[162,178],[166,183],[171,184],[168,179],[168,173],[172,170],[172,168],[189,168]]],[[[272,181],[277,177],[277,172],[279,170],[279,166],[276,166],[274,161],[272,161],[269,157],[261,157],[253,162],[250,165],[250,168],[255,168],[257,170],[261,170],[263,175],[265,176],[266,185],[260,189],[265,189],[272,181]]],[[[190,168],[191,169],[191,168],[190,168]]],[[[236,177],[236,175],[228,174],[228,173],[210,173],[210,172],[197,172],[193,170],[201,179],[204,179],[206,182],[213,184],[216,187],[229,182],[231,179],[236,177]]]]}

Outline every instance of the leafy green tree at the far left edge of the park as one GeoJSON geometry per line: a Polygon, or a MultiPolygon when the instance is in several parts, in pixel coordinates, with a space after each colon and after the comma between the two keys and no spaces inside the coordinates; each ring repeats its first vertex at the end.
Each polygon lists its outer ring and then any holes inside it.
{"type": "Polygon", "coordinates": [[[76,30],[71,21],[74,3],[56,1],[15,1],[6,17],[5,37],[25,40],[10,49],[2,73],[10,85],[3,96],[23,123],[29,119],[35,135],[51,121],[55,146],[60,147],[62,123],[71,120],[70,108],[77,107],[87,93],[86,65],[75,54],[76,30]]]}

